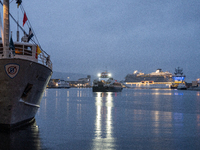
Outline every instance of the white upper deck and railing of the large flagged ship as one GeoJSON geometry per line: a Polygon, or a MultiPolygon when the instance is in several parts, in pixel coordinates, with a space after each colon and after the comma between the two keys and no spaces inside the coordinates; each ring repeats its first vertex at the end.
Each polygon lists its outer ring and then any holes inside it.
{"type": "MultiPolygon", "coordinates": [[[[26,37],[22,37],[22,42],[14,42],[15,51],[10,49],[10,58],[20,58],[31,60],[43,64],[52,69],[52,62],[50,56],[44,51],[40,50],[39,46],[27,42],[26,37]]],[[[3,58],[3,44],[0,37],[0,59],[3,58]]]]}

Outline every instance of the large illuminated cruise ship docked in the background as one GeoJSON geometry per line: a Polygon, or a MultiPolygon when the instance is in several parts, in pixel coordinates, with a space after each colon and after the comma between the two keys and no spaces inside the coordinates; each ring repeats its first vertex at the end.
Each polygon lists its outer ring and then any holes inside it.
{"type": "Polygon", "coordinates": [[[171,88],[172,77],[172,73],[163,72],[162,69],[157,69],[156,72],[150,74],[136,70],[125,77],[124,85],[130,88],[171,88]]]}

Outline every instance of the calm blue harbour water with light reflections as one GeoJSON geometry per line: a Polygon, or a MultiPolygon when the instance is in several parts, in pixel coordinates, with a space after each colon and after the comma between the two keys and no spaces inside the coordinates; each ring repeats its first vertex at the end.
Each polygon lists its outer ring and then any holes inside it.
{"type": "Polygon", "coordinates": [[[0,139],[0,149],[200,149],[200,92],[47,89],[35,125],[0,139]]]}

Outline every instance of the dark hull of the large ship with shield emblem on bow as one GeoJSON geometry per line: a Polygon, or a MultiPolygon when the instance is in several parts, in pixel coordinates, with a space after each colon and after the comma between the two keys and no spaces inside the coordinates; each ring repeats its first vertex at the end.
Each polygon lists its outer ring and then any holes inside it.
{"type": "Polygon", "coordinates": [[[34,61],[0,60],[1,127],[12,128],[34,120],[51,74],[50,68],[34,61]]]}

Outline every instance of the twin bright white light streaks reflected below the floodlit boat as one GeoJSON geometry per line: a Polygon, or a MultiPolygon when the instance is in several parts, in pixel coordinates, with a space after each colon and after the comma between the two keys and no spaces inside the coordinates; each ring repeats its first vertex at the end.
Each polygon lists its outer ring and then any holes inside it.
{"type": "Polygon", "coordinates": [[[113,137],[113,96],[112,92],[94,93],[96,105],[95,138],[93,149],[114,149],[115,138],[113,137]]]}

